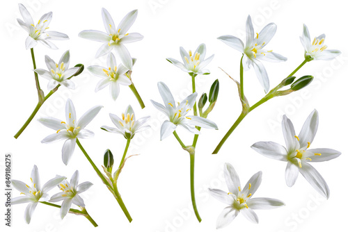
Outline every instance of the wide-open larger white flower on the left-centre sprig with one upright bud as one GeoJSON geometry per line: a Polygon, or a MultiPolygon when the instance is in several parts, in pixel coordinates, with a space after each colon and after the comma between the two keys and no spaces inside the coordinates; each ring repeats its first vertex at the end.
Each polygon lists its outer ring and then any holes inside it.
{"type": "Polygon", "coordinates": [[[41,117],[38,121],[51,129],[56,130],[56,133],[48,135],[41,142],[50,143],[58,140],[65,140],[63,149],[62,149],[62,159],[65,165],[68,165],[68,162],[74,153],[76,138],[92,138],[94,133],[84,129],[90,121],[99,113],[102,106],[95,106],[90,108],[84,115],[81,116],[78,122],[74,104],[70,99],[66,102],[65,106],[65,117],[66,122],[63,120],[55,119],[53,117],[41,117]]]}

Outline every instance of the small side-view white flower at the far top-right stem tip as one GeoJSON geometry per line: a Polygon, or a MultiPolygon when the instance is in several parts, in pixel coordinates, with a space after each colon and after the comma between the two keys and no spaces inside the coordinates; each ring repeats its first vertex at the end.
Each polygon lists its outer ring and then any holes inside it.
{"type": "Polygon", "coordinates": [[[310,41],[310,34],[306,24],[303,24],[303,35],[300,37],[301,43],[305,49],[305,56],[313,58],[314,60],[332,60],[340,55],[338,50],[328,50],[324,45],[325,34],[315,37],[313,42],[310,41]]]}

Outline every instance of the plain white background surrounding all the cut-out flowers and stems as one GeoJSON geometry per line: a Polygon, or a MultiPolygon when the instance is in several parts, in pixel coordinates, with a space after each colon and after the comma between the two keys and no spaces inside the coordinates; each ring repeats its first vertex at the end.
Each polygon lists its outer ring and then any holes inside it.
{"type": "MultiPolygon", "coordinates": [[[[101,8],[111,13],[115,24],[131,10],[139,9],[139,15],[129,32],[144,35],[140,42],[127,44],[133,57],[138,58],[132,75],[136,88],[145,101],[141,110],[129,88],[121,85],[120,96],[113,101],[107,89],[95,93],[98,77],[88,71],[72,80],[76,90],[60,88],[42,108],[35,119],[15,140],[13,135],[29,117],[36,105],[37,96],[33,78],[30,51],[25,49],[26,33],[16,22],[20,17],[17,2],[6,1],[1,7],[1,154],[13,154],[13,179],[29,183],[33,165],[38,165],[42,183],[56,174],[70,176],[76,169],[80,172],[80,183],[91,181],[93,187],[83,195],[86,208],[100,226],[94,231],[113,229],[118,231],[214,231],[216,218],[226,207],[209,197],[207,188],[227,190],[221,179],[223,163],[232,163],[242,185],[255,172],[262,170],[263,181],[255,197],[273,197],[285,201],[286,206],[275,210],[257,210],[259,224],[248,222],[239,215],[230,226],[221,231],[342,231],[346,217],[347,192],[347,10],[342,1],[184,1],[184,0],[137,0],[137,1],[23,1],[31,12],[34,22],[41,15],[53,11],[52,31],[69,35],[70,40],[54,42],[59,50],[51,50],[38,44],[35,57],[38,68],[46,68],[47,54],[58,60],[70,49],[70,64],[83,63],[102,65],[105,58],[95,60],[100,43],[79,38],[80,31],[95,29],[104,31],[101,8]],[[255,32],[260,32],[269,22],[278,25],[274,39],[267,49],[288,58],[286,63],[264,63],[270,77],[271,88],[290,74],[303,61],[303,47],[299,40],[302,25],[306,23],[312,38],[326,33],[329,49],[340,49],[342,56],[334,61],[313,61],[306,64],[296,75],[313,74],[315,81],[299,92],[271,99],[244,119],[230,136],[219,154],[212,155],[216,144],[228,131],[240,113],[237,88],[222,67],[232,77],[239,78],[241,54],[216,40],[220,35],[236,35],[244,38],[245,21],[248,15],[254,22],[255,32]],[[200,43],[207,45],[207,56],[215,54],[208,65],[209,76],[198,78],[198,96],[208,92],[212,82],[219,78],[220,94],[216,108],[209,115],[219,126],[219,131],[203,129],[196,149],[196,199],[203,221],[199,224],[191,211],[189,190],[189,155],[180,148],[171,136],[159,141],[160,122],[164,116],[150,103],[150,99],[161,102],[157,82],[164,81],[176,99],[183,99],[191,91],[191,78],[171,65],[166,58],[180,60],[179,47],[195,50],[200,43]],[[150,115],[152,129],[137,134],[132,140],[129,154],[141,154],[127,161],[120,175],[118,188],[134,221],[129,224],[109,190],[90,167],[84,155],[76,147],[68,166],[61,160],[63,142],[41,144],[40,141],[51,129],[39,124],[40,116],[64,118],[65,101],[70,97],[80,117],[97,104],[104,108],[88,125],[95,138],[81,140],[88,154],[98,166],[102,165],[104,151],[109,148],[119,162],[126,140],[120,135],[102,131],[100,126],[113,126],[109,113],[120,115],[130,103],[136,117],[150,115]],[[285,163],[265,158],[250,146],[258,141],[274,141],[285,144],[280,127],[284,113],[292,119],[299,133],[310,112],[319,111],[319,130],[312,147],[328,147],[342,151],[342,156],[326,163],[315,163],[315,168],[329,184],[329,200],[320,197],[303,176],[288,188],[285,184],[285,163]]],[[[86,69],[85,69],[86,70],[86,69]]],[[[255,72],[245,72],[245,94],[249,103],[264,96],[255,72]]],[[[40,78],[47,93],[47,81],[40,78]]],[[[193,135],[177,131],[185,144],[190,144],[193,135]]],[[[3,157],[3,155],[1,155],[3,157]]],[[[3,175],[1,158],[1,175],[3,175]]],[[[4,182],[4,177],[1,178],[4,182]]],[[[3,184],[1,184],[3,185],[3,184]]],[[[54,194],[58,189],[52,190],[54,194]]],[[[1,194],[3,195],[3,194],[1,194]]],[[[19,192],[14,191],[14,197],[19,192]]],[[[13,206],[13,228],[6,231],[63,231],[64,229],[92,231],[93,226],[81,216],[69,214],[63,221],[59,210],[38,205],[31,224],[23,219],[26,204],[13,206]]],[[[4,208],[1,208],[3,215],[4,208]]],[[[4,216],[1,216],[4,217],[4,216]]],[[[1,224],[4,224],[1,219],[1,224]]]]}

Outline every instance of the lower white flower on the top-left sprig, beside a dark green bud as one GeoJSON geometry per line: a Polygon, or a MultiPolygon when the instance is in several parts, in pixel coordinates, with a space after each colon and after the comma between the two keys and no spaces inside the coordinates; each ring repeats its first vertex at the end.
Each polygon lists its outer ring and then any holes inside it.
{"type": "Polygon", "coordinates": [[[45,63],[47,65],[47,70],[45,69],[35,69],[34,72],[42,76],[43,78],[49,80],[47,85],[48,90],[53,90],[57,85],[64,85],[66,88],[74,89],[75,85],[68,78],[79,71],[79,67],[69,68],[70,64],[70,52],[65,51],[63,56],[58,63],[54,60],[45,56],[45,63]]]}

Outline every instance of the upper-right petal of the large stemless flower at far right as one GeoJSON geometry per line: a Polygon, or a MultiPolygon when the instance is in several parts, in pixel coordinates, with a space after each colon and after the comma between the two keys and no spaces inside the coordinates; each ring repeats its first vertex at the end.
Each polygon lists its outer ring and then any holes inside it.
{"type": "Polygon", "coordinates": [[[313,110],[307,117],[306,122],[303,124],[299,133],[300,147],[307,147],[308,142],[312,143],[315,134],[317,133],[319,124],[319,115],[317,110],[313,110]]]}

